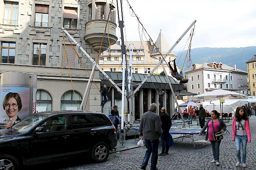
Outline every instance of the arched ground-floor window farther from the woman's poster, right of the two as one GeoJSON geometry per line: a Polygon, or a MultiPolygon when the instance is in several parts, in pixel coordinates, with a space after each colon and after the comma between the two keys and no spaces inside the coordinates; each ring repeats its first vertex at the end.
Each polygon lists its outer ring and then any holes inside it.
{"type": "Polygon", "coordinates": [[[61,110],[79,110],[81,103],[82,96],[78,92],[72,90],[65,92],[61,97],[61,110]],[[77,107],[77,109],[72,107],[77,107]]]}

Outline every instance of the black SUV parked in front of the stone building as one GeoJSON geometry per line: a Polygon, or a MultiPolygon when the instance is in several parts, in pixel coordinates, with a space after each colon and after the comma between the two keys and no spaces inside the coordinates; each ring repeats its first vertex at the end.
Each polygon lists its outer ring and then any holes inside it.
{"type": "Polygon", "coordinates": [[[0,169],[16,170],[78,154],[103,162],[117,145],[115,133],[109,118],[98,112],[33,114],[0,131],[0,169]]]}

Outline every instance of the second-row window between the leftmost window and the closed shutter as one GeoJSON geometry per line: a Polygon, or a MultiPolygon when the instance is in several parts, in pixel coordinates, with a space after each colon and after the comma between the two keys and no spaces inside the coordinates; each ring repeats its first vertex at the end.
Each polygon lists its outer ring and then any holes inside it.
{"type": "Polygon", "coordinates": [[[33,65],[46,65],[46,44],[33,43],[33,65]]]}

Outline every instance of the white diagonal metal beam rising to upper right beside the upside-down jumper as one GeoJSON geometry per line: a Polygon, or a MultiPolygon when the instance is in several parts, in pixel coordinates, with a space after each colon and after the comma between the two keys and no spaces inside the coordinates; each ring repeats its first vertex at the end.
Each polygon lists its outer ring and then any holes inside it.
{"type": "Polygon", "coordinates": [[[180,36],[180,38],[174,43],[174,45],[171,47],[171,49],[169,49],[169,51],[165,54],[165,56],[163,56],[163,58],[157,63],[157,65],[154,67],[154,69],[152,69],[152,71],[150,71],[150,73],[147,75],[147,77],[141,82],[141,85],[139,85],[135,90],[134,90],[134,94],[141,88],[141,86],[143,85],[143,83],[145,83],[145,81],[148,80],[148,78],[154,73],[154,71],[159,67],[159,65],[163,62],[163,60],[170,54],[170,52],[174,49],[174,47],[180,42],[180,40],[185,36],[185,34],[187,33],[187,31],[189,31],[189,29],[191,29],[191,27],[195,24],[195,22],[197,22],[196,20],[192,22],[191,25],[189,25],[189,27],[187,28],[187,30],[182,34],[182,36],[180,36]]]}

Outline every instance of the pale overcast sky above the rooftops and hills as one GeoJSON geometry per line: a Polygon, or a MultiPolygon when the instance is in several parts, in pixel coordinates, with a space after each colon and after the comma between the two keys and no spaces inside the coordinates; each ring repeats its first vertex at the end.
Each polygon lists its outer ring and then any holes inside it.
{"type": "MultiPolygon", "coordinates": [[[[128,2],[154,42],[161,29],[167,42],[172,46],[187,27],[197,20],[191,48],[256,46],[256,0],[128,0],[128,2]]],[[[126,0],[123,0],[123,9],[127,40],[140,40],[138,22],[130,15],[131,11],[126,0]]],[[[174,52],[184,48],[189,33],[174,48],[174,52]]],[[[120,36],[120,33],[117,33],[117,36],[120,36]]],[[[146,40],[145,36],[143,40],[146,40]]]]}

